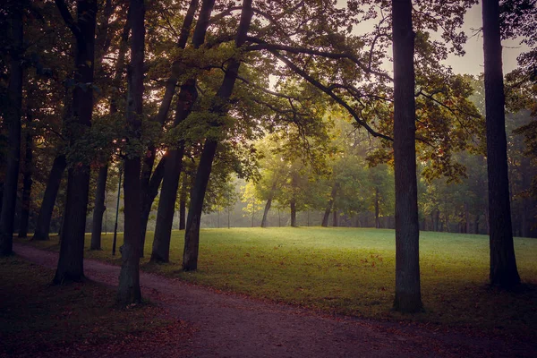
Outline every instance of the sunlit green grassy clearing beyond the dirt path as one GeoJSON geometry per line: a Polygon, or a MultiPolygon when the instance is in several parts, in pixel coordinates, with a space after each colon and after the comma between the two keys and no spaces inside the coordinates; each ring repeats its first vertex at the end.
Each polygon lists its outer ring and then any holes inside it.
{"type": "MultiPolygon", "coordinates": [[[[87,240],[89,246],[90,240],[87,240]]],[[[86,257],[119,264],[104,251],[86,257]]],[[[119,242],[122,242],[120,238],[119,242]]],[[[250,294],[322,311],[388,320],[418,320],[534,335],[537,329],[537,240],[516,238],[524,289],[516,294],[487,287],[488,236],[422,233],[422,299],[426,311],[391,311],[395,286],[393,230],[365,228],[232,228],[201,231],[199,270],[181,271],[183,232],[172,237],[171,264],[142,269],[218,289],[250,294]]],[[[57,250],[57,242],[35,243],[57,250]]]]}

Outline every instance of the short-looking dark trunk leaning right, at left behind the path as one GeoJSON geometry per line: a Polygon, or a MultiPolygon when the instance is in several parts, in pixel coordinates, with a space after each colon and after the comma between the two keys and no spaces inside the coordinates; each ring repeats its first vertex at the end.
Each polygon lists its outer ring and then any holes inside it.
{"type": "Polygon", "coordinates": [[[67,161],[65,160],[64,154],[61,154],[54,159],[52,169],[50,169],[50,174],[48,175],[47,188],[45,189],[41,208],[39,209],[38,223],[36,224],[33,240],[48,240],[55,200],[58,191],[60,190],[62,176],[64,176],[66,167],[67,161]]]}

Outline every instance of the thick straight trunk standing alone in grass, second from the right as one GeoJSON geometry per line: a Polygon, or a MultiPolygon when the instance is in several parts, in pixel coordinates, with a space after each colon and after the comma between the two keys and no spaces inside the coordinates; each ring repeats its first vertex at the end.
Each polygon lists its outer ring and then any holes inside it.
{"type": "Polygon", "coordinates": [[[394,157],[396,177],[396,297],[394,309],[422,310],[415,151],[414,33],[410,0],[392,1],[394,157]]]}

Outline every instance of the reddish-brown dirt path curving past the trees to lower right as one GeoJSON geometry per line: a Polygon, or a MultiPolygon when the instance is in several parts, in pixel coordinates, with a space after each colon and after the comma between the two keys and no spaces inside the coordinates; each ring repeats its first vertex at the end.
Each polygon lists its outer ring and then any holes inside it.
{"type": "MultiPolygon", "coordinates": [[[[22,258],[55,268],[57,253],[15,244],[22,258]]],[[[90,279],[116,286],[119,267],[85,260],[90,279]]],[[[534,357],[534,342],[482,337],[479,332],[321,315],[288,305],[218,294],[178,280],[141,273],[142,294],[191,325],[189,342],[172,342],[152,357],[534,357]]],[[[89,356],[92,354],[89,354],[89,356]]],[[[103,356],[102,354],[100,356],[103,356]]],[[[132,356],[132,354],[129,354],[132,356]]]]}

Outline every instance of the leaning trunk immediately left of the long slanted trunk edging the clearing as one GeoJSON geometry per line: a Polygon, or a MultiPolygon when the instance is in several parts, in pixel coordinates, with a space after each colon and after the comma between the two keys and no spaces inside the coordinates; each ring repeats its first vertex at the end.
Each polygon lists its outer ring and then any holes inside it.
{"type": "MultiPolygon", "coordinates": [[[[181,86],[181,92],[177,98],[175,108],[174,126],[181,124],[192,111],[192,107],[198,98],[194,80],[186,81],[181,86]]],[[[178,148],[169,152],[166,162],[160,200],[158,201],[157,224],[153,240],[151,261],[168,262],[170,255],[170,240],[172,226],[174,224],[175,201],[183,163],[184,141],[179,141],[178,148]]]]}

